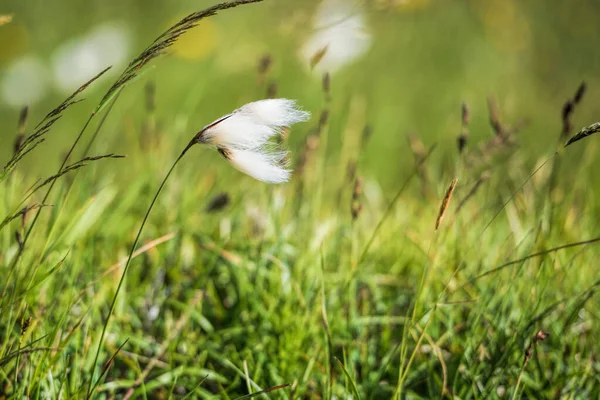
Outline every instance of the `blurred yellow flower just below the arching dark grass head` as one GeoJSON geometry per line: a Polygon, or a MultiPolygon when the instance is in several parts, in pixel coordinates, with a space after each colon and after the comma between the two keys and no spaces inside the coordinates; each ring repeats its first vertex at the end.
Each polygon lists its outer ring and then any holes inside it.
{"type": "MultiPolygon", "coordinates": [[[[173,20],[170,25],[177,21],[173,20]]],[[[218,42],[219,32],[216,24],[204,20],[179,38],[173,45],[173,54],[186,60],[201,60],[217,47],[218,42]]]]}

